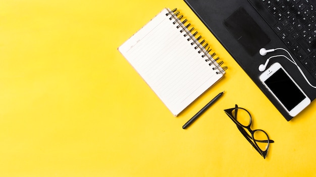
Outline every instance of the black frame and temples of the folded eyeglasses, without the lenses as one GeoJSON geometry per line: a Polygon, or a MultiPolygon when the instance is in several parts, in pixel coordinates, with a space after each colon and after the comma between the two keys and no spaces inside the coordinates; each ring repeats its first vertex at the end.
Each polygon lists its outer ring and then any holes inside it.
{"type": "Polygon", "coordinates": [[[248,140],[248,142],[253,146],[253,148],[264,158],[267,157],[267,154],[268,154],[268,150],[269,150],[269,147],[270,147],[270,143],[274,143],[273,140],[271,140],[267,134],[267,132],[265,132],[264,130],[261,130],[261,129],[255,129],[255,130],[252,130],[250,128],[251,126],[251,123],[252,123],[252,116],[251,114],[249,113],[248,110],[244,109],[244,108],[241,108],[241,107],[238,107],[237,105],[235,105],[235,108],[230,108],[230,109],[226,109],[224,110],[224,112],[228,115],[228,117],[236,124],[238,130],[240,131],[240,133],[248,140]],[[249,115],[249,118],[250,118],[250,121],[249,121],[249,124],[247,126],[245,125],[242,125],[240,122],[237,121],[237,111],[235,112],[235,116],[232,115],[233,113],[233,110],[238,110],[238,109],[242,109],[244,111],[246,111],[249,115]],[[235,119],[236,118],[236,119],[235,119]],[[249,131],[249,133],[251,134],[251,136],[245,131],[245,129],[247,129],[249,131]],[[254,132],[256,131],[261,131],[261,132],[264,132],[268,138],[268,140],[256,140],[254,139],[253,135],[254,135],[254,132]],[[256,142],[263,142],[263,143],[268,143],[267,145],[267,148],[266,150],[262,151],[260,149],[260,147],[257,145],[256,142]]]}

